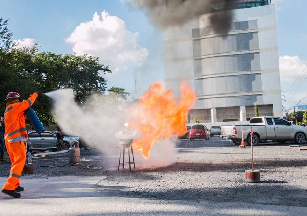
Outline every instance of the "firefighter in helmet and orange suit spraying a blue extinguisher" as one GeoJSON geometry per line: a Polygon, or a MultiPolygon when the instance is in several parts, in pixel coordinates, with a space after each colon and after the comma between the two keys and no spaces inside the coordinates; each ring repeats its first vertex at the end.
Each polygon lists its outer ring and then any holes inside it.
{"type": "Polygon", "coordinates": [[[24,142],[28,138],[24,111],[34,104],[38,96],[41,96],[40,92],[30,95],[28,100],[23,100],[18,93],[9,92],[4,101],[6,103],[6,110],[4,112],[4,140],[12,165],[9,178],[1,192],[15,198],[21,197],[18,192],[24,190],[23,187],[20,187],[19,183],[26,160],[24,142]]]}

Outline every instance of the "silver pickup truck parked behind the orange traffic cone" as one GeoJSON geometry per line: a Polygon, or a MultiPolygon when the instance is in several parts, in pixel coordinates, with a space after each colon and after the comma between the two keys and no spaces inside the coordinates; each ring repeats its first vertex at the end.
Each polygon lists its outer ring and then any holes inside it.
{"type": "Polygon", "coordinates": [[[294,141],[303,144],[307,138],[307,128],[293,125],[291,122],[279,117],[265,116],[251,118],[248,125],[221,126],[223,139],[231,139],[235,145],[240,145],[242,139],[247,145],[251,145],[250,129],[253,127],[253,145],[260,141],[277,141],[281,144],[286,141],[294,141]]]}

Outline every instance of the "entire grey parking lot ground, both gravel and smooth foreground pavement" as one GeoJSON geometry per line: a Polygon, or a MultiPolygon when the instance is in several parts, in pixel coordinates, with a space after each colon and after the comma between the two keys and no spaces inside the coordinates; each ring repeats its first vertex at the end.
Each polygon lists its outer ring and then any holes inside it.
{"type": "MultiPolygon", "coordinates": [[[[214,137],[177,142],[175,161],[156,168],[118,171],[118,151],[103,169],[69,166],[67,156],[34,158],[35,172],[21,177],[18,199],[0,195],[3,215],[307,215],[307,154],[289,144],[254,148],[261,183],[246,183],[251,149],[214,137]],[[64,164],[64,167],[40,167],[64,164]]],[[[84,164],[105,153],[81,151],[84,164]]],[[[0,184],[8,164],[0,164],[0,184]]]]}

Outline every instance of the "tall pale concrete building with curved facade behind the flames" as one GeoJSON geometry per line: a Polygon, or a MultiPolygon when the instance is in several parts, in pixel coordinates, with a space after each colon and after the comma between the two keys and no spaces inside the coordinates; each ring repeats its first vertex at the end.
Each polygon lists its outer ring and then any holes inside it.
{"type": "Polygon", "coordinates": [[[255,103],[260,116],[283,116],[275,6],[239,2],[228,35],[212,31],[210,14],[163,33],[167,87],[179,94],[185,80],[198,98],[188,123],[246,121],[255,103]]]}

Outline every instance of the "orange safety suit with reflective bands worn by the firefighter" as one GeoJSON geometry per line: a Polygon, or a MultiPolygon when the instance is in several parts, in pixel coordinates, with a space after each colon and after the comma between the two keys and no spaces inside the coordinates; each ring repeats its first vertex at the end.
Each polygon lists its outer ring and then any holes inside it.
{"type": "Polygon", "coordinates": [[[26,139],[28,138],[25,122],[26,117],[23,112],[33,105],[37,97],[38,94],[34,93],[30,95],[28,100],[24,100],[20,103],[8,104],[4,112],[5,146],[12,165],[9,178],[2,189],[15,190],[20,184],[19,178],[26,161],[25,143],[10,142],[10,140],[19,136],[25,136],[26,139]]]}

